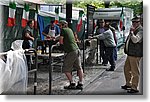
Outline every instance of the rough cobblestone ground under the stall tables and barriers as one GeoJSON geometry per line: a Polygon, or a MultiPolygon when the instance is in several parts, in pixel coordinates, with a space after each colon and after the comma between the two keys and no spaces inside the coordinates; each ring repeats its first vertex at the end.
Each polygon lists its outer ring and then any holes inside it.
{"type": "MultiPolygon", "coordinates": [[[[118,51],[118,59],[123,55],[123,49],[118,51]]],[[[100,76],[106,68],[109,66],[89,66],[85,68],[84,71],[84,87],[89,83],[94,81],[98,76],[100,76]]],[[[34,74],[29,74],[28,79],[28,91],[29,95],[33,94],[33,76],[34,74]]],[[[78,81],[76,72],[73,72],[75,82],[78,81]]],[[[61,73],[60,68],[54,68],[52,73],[52,95],[76,95],[81,90],[65,90],[63,87],[68,84],[66,76],[61,73]]],[[[37,72],[37,94],[38,95],[48,95],[49,94],[49,73],[48,66],[40,65],[37,72]]]]}

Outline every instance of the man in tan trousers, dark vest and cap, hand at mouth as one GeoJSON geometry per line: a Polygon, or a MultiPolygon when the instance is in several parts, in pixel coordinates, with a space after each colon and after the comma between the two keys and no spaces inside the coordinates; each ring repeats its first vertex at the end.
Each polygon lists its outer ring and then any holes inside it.
{"type": "Polygon", "coordinates": [[[139,63],[143,56],[143,27],[140,24],[140,18],[137,16],[132,19],[132,27],[124,51],[127,54],[124,65],[126,83],[121,88],[128,90],[128,93],[137,93],[139,92],[139,63]]]}

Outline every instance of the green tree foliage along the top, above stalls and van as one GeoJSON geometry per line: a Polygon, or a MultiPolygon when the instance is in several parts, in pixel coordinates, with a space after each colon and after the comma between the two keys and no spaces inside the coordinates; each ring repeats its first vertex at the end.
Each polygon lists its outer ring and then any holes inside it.
{"type": "MultiPolygon", "coordinates": [[[[86,5],[90,4],[96,8],[104,8],[108,0],[43,0],[48,4],[66,4],[66,1],[72,1],[73,7],[83,8],[86,11],[86,5]]],[[[143,13],[143,0],[109,0],[110,7],[128,7],[134,10],[134,15],[143,13]]]]}

